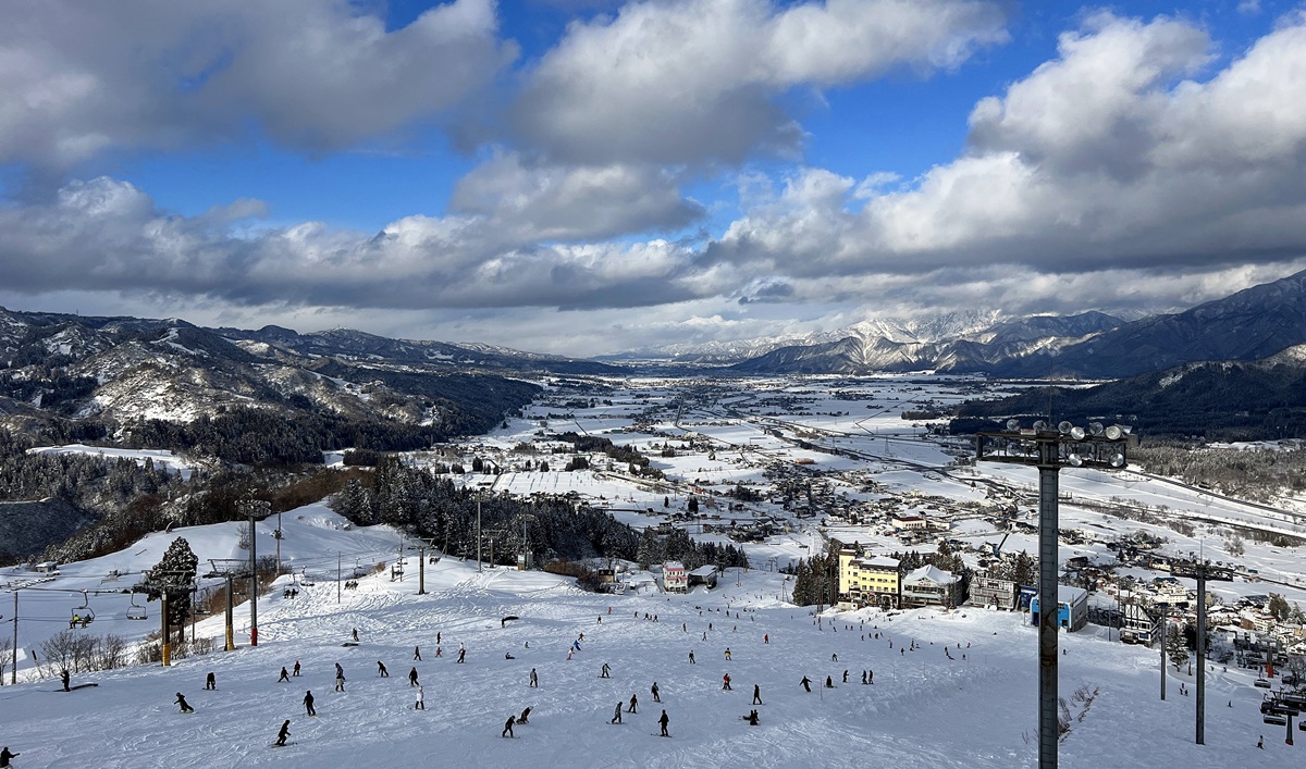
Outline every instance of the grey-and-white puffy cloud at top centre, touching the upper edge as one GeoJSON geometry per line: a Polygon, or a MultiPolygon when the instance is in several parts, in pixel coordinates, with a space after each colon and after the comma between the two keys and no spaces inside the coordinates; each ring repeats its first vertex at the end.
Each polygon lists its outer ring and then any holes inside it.
{"type": "Polygon", "coordinates": [[[893,68],[952,68],[1007,39],[996,4],[974,0],[632,3],[572,22],[530,72],[517,132],[567,162],[739,162],[797,149],[777,106],[793,87],[893,68]]]}

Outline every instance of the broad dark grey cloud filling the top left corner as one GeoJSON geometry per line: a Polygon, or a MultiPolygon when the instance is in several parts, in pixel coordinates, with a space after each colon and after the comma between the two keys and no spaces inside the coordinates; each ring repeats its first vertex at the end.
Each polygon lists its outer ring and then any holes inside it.
{"type": "Polygon", "coordinates": [[[409,26],[342,0],[17,0],[0,5],[0,162],[67,168],[114,149],[238,138],[306,151],[401,131],[515,56],[492,0],[409,26]]]}

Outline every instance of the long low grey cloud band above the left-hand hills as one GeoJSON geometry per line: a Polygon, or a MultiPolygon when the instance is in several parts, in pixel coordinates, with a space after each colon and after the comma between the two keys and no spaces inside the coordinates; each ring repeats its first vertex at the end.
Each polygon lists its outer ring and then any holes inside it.
{"type": "Polygon", "coordinates": [[[261,210],[238,201],[167,215],[129,183],[76,181],[52,201],[0,208],[7,289],[359,308],[639,307],[699,295],[692,255],[665,240],[537,245],[473,214],[406,217],[375,235],[320,222],[235,228],[261,210]]]}

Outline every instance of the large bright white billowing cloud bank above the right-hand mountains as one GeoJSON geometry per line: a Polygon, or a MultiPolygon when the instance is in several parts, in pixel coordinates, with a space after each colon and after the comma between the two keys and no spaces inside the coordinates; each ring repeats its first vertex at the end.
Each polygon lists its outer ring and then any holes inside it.
{"type": "Polygon", "coordinates": [[[797,277],[1019,265],[1045,273],[1285,261],[1306,253],[1306,18],[1208,80],[1190,22],[1097,16],[1059,57],[981,101],[955,161],[896,189],[791,174],[709,264],[797,277]]]}

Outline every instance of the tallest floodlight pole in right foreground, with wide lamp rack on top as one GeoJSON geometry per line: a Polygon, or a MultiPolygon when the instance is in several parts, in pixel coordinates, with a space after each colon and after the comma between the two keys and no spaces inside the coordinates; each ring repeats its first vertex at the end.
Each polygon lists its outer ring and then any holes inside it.
{"type": "Polygon", "coordinates": [[[1126,449],[1136,445],[1128,428],[1093,422],[1088,430],[1060,422],[1055,428],[1040,419],[1021,430],[1016,419],[1007,420],[1006,432],[976,435],[976,461],[1011,462],[1038,467],[1038,766],[1057,769],[1057,742],[1060,736],[1057,700],[1057,618],[1060,614],[1057,573],[1058,509],[1060,469],[1126,465],[1126,449]],[[1050,608],[1051,607],[1051,608],[1050,608]]]}

